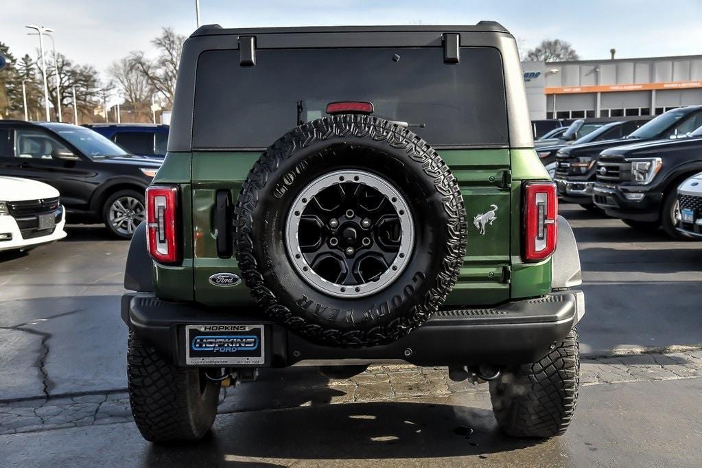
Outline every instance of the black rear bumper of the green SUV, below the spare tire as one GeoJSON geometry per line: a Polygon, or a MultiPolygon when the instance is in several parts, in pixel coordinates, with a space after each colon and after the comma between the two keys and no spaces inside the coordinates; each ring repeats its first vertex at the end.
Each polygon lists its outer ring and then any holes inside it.
{"type": "Polygon", "coordinates": [[[185,326],[265,325],[265,367],[404,361],[417,366],[507,365],[535,362],[585,314],[579,290],[562,290],[491,309],[447,309],[390,345],[333,348],[314,345],[265,319],[257,309],[233,312],[166,302],[151,293],[122,296],[121,316],[140,339],[185,366],[185,326]]]}

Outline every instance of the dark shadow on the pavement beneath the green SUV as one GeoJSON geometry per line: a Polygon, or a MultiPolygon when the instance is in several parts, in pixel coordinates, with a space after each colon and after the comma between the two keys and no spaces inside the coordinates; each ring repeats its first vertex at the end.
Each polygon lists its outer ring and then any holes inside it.
{"type": "Polygon", "coordinates": [[[484,457],[536,443],[543,440],[504,436],[492,411],[483,408],[345,403],[220,416],[213,434],[197,445],[148,447],[146,464],[209,466],[253,459],[257,465],[282,466],[292,460],[484,457]]]}

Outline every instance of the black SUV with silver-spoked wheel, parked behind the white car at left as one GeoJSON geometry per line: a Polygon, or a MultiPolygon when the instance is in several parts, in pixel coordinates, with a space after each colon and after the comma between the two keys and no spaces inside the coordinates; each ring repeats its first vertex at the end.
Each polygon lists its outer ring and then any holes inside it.
{"type": "Polygon", "coordinates": [[[89,128],[0,121],[0,175],[52,185],[70,222],[105,222],[124,239],[145,219],[144,190],[160,166],[89,128]]]}

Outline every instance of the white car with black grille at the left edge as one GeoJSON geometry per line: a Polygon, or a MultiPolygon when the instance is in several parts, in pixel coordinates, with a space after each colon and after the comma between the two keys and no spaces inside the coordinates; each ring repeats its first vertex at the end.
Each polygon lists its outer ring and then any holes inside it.
{"type": "Polygon", "coordinates": [[[0,251],[28,250],[66,236],[58,190],[44,182],[0,176],[0,251]]]}

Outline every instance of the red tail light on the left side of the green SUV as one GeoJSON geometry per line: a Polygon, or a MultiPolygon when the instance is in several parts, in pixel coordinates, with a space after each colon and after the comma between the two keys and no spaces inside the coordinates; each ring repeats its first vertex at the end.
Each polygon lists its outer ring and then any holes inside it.
{"type": "Polygon", "coordinates": [[[146,189],[147,245],[159,263],[180,262],[178,250],[178,187],[152,185],[146,189]]]}

